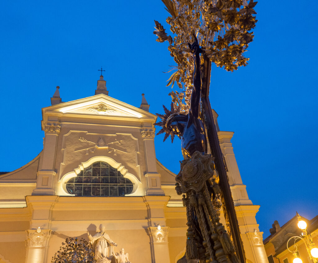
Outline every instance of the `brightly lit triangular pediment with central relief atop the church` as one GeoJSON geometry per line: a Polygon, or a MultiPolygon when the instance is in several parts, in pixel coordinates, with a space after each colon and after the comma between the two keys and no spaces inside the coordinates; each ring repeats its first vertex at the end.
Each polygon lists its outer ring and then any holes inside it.
{"type": "Polygon", "coordinates": [[[96,116],[118,116],[135,118],[156,118],[156,115],[140,108],[131,106],[120,100],[99,94],[84,99],[63,102],[57,105],[43,108],[46,112],[60,112],[63,114],[90,114],[96,116]]]}

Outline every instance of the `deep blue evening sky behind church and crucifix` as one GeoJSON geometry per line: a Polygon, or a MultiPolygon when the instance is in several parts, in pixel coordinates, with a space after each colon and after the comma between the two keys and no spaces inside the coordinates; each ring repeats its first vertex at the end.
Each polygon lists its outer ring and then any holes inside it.
{"type": "MultiPolygon", "coordinates": [[[[264,238],[274,220],[317,207],[317,2],[262,1],[247,67],[231,73],[212,67],[210,100],[221,130],[232,139],[243,183],[264,238]]],[[[150,112],[169,106],[174,65],[168,43],[156,42],[154,19],[165,23],[157,1],[1,1],[1,164],[10,172],[43,148],[41,108],[55,87],[62,101],[94,95],[100,72],[109,95],[150,112]]],[[[158,130],[158,129],[157,129],[158,130]]],[[[177,173],[180,141],[155,138],[157,158],[177,173]]]]}

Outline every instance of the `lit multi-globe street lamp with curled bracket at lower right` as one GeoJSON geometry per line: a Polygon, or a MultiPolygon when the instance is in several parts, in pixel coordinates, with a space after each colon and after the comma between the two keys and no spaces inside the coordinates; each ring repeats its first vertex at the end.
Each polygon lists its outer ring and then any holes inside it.
{"type": "Polygon", "coordinates": [[[302,241],[304,241],[309,258],[311,260],[313,260],[314,263],[318,262],[316,258],[318,258],[318,248],[315,247],[315,244],[313,242],[313,239],[310,235],[310,232],[307,231],[307,223],[304,220],[301,220],[301,216],[296,212],[296,216],[298,219],[298,228],[302,230],[301,232],[301,236],[294,236],[288,239],[287,241],[287,249],[289,252],[293,253],[294,256],[294,260],[293,263],[302,263],[302,260],[300,258],[298,258],[297,256],[297,244],[296,241],[298,239],[301,239],[302,241]],[[294,239],[294,250],[290,250],[288,248],[288,243],[291,239],[294,239]]]}

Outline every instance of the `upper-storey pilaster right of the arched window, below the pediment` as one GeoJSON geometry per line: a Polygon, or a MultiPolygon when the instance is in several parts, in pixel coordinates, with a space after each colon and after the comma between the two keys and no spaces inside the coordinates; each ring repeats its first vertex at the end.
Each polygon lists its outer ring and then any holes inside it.
{"type": "Polygon", "coordinates": [[[147,179],[147,191],[146,195],[164,195],[164,191],[161,189],[160,174],[157,172],[156,166],[156,152],[155,152],[155,131],[150,123],[144,124],[145,126],[141,131],[145,149],[145,161],[146,161],[146,179],[147,179]]]}

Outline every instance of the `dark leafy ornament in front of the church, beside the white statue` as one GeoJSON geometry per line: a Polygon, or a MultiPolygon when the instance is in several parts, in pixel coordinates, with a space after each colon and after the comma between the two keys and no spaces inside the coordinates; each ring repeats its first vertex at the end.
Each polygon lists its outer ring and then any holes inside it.
{"type": "Polygon", "coordinates": [[[84,238],[66,238],[51,263],[95,263],[92,246],[84,238]]]}

